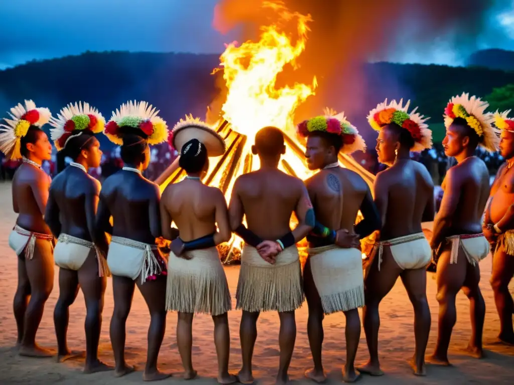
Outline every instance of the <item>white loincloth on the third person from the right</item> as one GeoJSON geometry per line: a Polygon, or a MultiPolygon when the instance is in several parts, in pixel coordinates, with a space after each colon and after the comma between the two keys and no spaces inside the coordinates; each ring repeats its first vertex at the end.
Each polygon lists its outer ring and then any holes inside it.
{"type": "Polygon", "coordinates": [[[426,267],[432,258],[432,249],[423,232],[406,235],[375,243],[375,258],[378,257],[378,271],[382,263],[383,248],[390,247],[396,264],[403,270],[426,267]]]}

